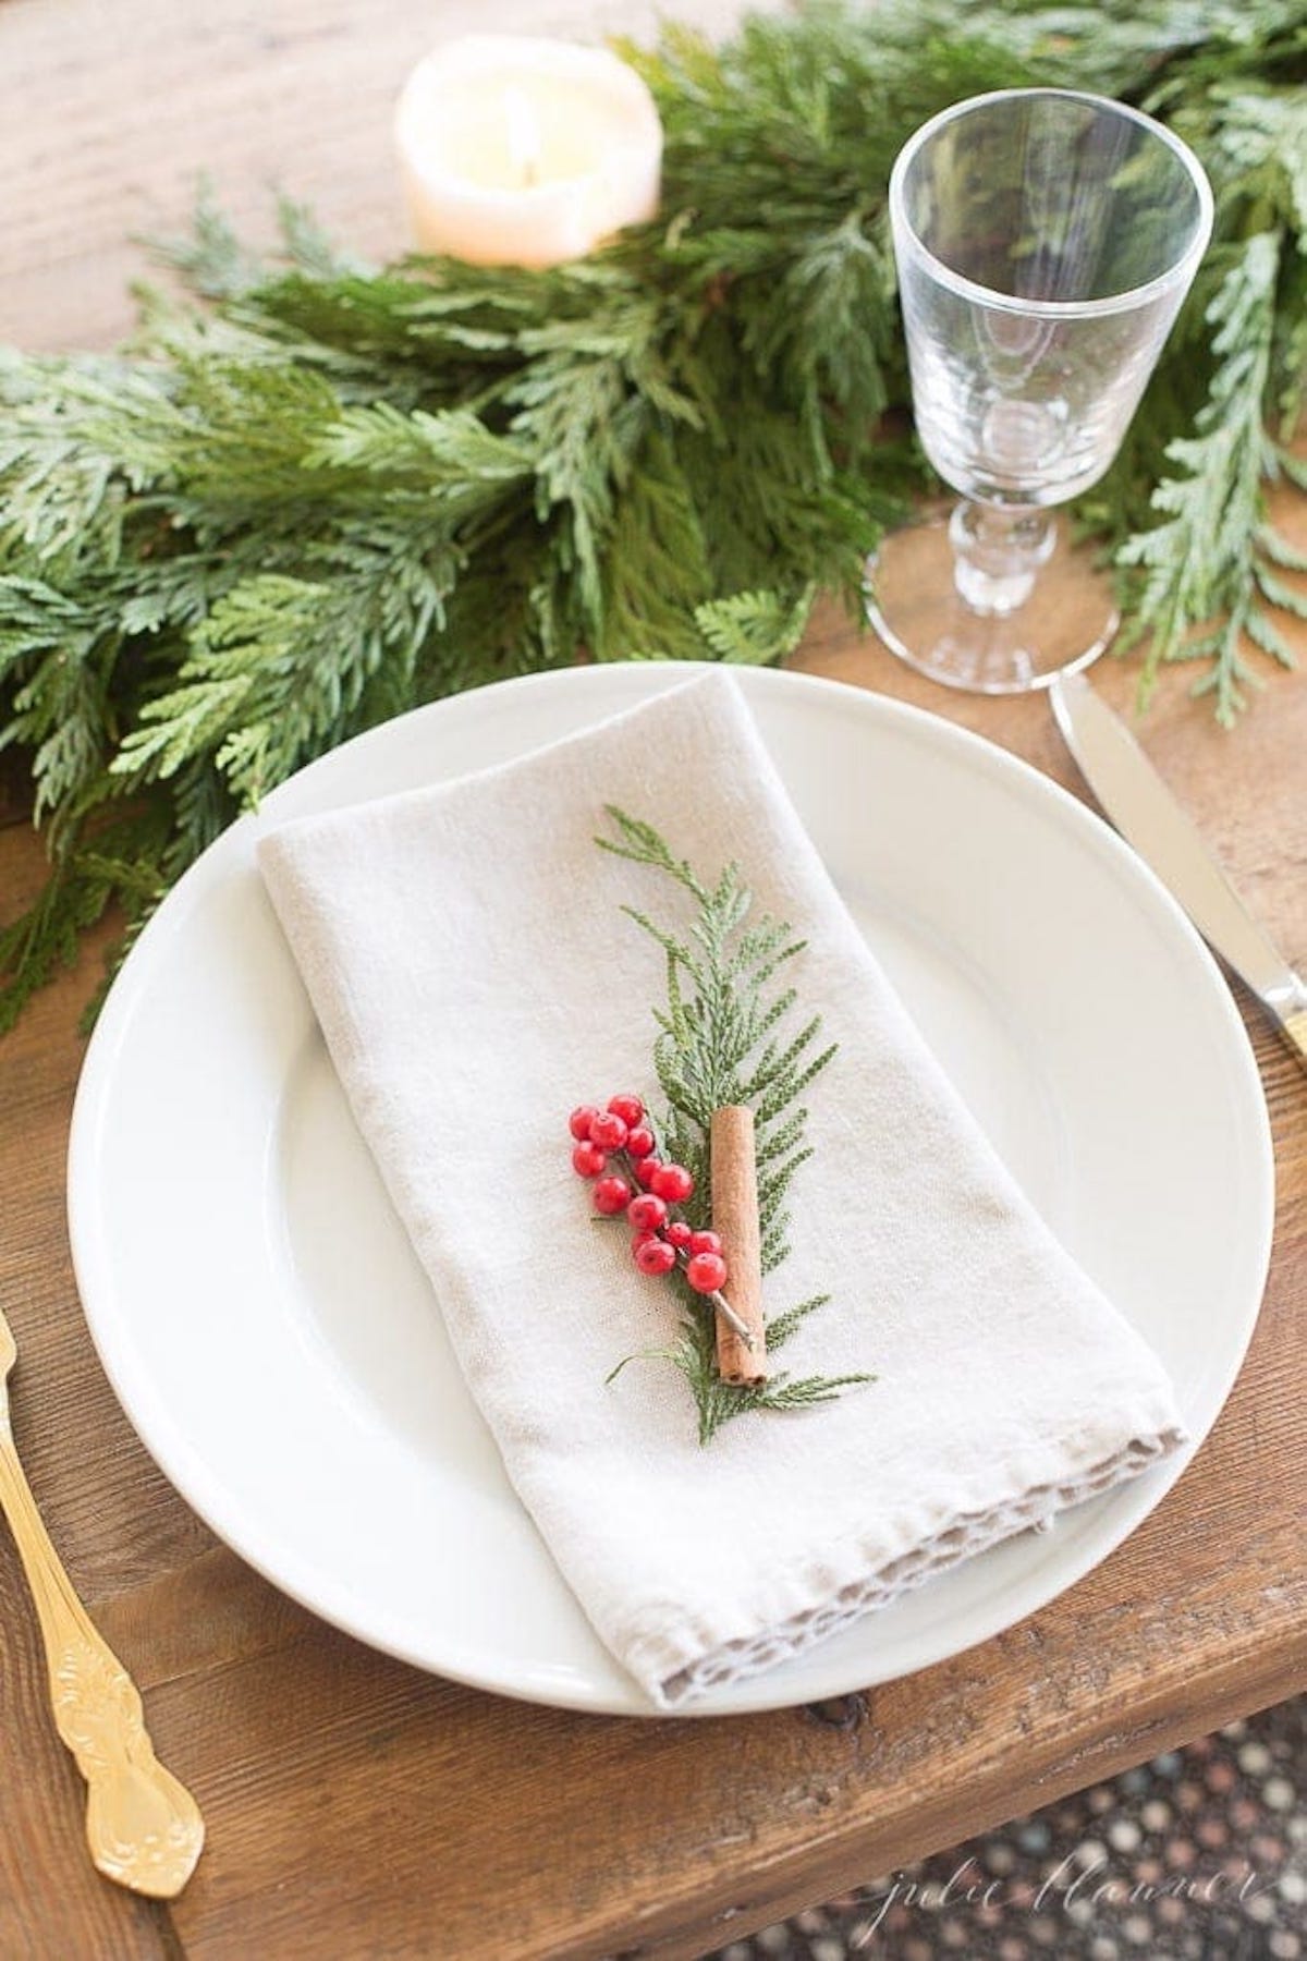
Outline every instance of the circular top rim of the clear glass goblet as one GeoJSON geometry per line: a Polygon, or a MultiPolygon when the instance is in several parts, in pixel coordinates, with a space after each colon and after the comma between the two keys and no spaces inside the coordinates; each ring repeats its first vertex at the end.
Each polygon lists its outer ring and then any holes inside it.
{"type": "Polygon", "coordinates": [[[1131,314],[1150,300],[1160,298],[1174,286],[1187,282],[1197,269],[1197,261],[1207,251],[1211,243],[1211,227],[1215,216],[1215,200],[1211,194],[1211,182],[1207,171],[1197,161],[1187,143],[1184,143],[1166,124],[1160,124],[1154,116],[1146,116],[1142,110],[1133,108],[1129,102],[1117,102],[1115,96],[1091,94],[1084,88],[990,88],[980,96],[964,96],[962,102],[952,102],[946,110],[939,110],[927,122],[921,124],[913,135],[907,137],[901,151],[894,159],[894,169],[890,171],[890,224],[894,233],[905,233],[911,239],[913,251],[927,263],[931,277],[937,284],[946,286],[948,292],[958,294],[964,300],[976,300],[980,306],[988,306],[992,312],[1001,314],[1023,314],[1027,320],[1099,320],[1109,314],[1131,314]],[[1015,292],[999,292],[995,286],[984,286],[980,280],[966,278],[964,273],[954,273],[952,267],[944,265],[931,247],[923,241],[911,218],[907,216],[903,182],[907,171],[915,161],[917,153],[925,143],[937,135],[950,122],[958,122],[972,110],[984,108],[990,102],[1031,102],[1037,96],[1056,98],[1062,102],[1084,102],[1095,110],[1111,110],[1113,116],[1125,118],[1125,122],[1137,124],[1146,129],[1158,141],[1180,159],[1184,171],[1193,184],[1197,194],[1197,224],[1193,227],[1193,237],[1187,249],[1170,265],[1164,273],[1154,278],[1144,280],[1140,286],[1127,286],[1123,292],[1109,292],[1097,300],[1023,300],[1015,292]]]}

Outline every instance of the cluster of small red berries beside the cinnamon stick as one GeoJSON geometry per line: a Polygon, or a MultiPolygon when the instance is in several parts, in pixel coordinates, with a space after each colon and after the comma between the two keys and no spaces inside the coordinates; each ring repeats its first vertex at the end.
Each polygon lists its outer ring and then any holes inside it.
{"type": "Polygon", "coordinates": [[[684,1206],[694,1192],[694,1179],[684,1165],[662,1163],[639,1096],[609,1096],[604,1110],[580,1104],[568,1118],[568,1130],[576,1139],[572,1171],[596,1181],[596,1212],[607,1218],[627,1214],[631,1259],[641,1273],[670,1273],[684,1265],[696,1294],[719,1292],[727,1279],[721,1239],[715,1232],[694,1232],[688,1220],[674,1216],[672,1208],[684,1206]]]}

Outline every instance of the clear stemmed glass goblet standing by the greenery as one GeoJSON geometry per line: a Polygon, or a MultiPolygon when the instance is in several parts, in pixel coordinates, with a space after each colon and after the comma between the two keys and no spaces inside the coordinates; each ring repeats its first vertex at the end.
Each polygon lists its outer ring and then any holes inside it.
{"type": "Polygon", "coordinates": [[[882,543],[868,616],[935,680],[1042,688],[1115,633],[1109,580],[1050,506],[1117,455],[1211,210],[1178,137],[1066,88],[974,96],[901,149],[890,222],[913,414],[962,502],[882,543]]]}

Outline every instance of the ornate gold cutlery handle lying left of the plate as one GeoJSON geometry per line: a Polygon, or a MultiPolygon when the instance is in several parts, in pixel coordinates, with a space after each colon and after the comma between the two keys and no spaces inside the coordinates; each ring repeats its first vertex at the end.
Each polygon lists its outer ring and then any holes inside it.
{"type": "Polygon", "coordinates": [[[0,1312],[0,1510],[41,1624],[55,1726],[86,1779],[90,1857],[120,1886],[170,1900],[204,1845],[200,1806],[155,1757],[137,1686],[92,1626],[41,1524],[10,1426],[6,1383],[16,1361],[0,1312]]]}

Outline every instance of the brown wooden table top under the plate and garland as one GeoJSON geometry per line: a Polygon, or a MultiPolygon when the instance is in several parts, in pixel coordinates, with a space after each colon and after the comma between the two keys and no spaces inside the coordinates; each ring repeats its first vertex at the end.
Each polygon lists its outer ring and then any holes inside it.
{"type": "MultiPolygon", "coordinates": [[[[653,12],[653,10],[649,10],[653,12]]],[[[672,10],[678,12],[678,10],[672,10]]],[[[686,4],[709,25],[731,8],[686,4]]],[[[266,182],[351,241],[398,243],[388,106],[435,29],[584,31],[631,6],[527,0],[8,0],[0,10],[0,339],[104,345],[127,233],[176,224],[208,165],[241,220],[266,182]]],[[[1285,504],[1307,549],[1307,508],[1285,504]]],[[[1307,633],[1297,635],[1307,655],[1307,633]]],[[[1041,698],[952,696],[823,616],[799,663],[919,702],[1072,790],[1041,698]]],[[[1093,684],[1129,704],[1137,669],[1093,684]]],[[[1142,739],[1289,955],[1307,959],[1307,673],[1234,733],[1182,677],[1142,739]]],[[[0,828],[0,916],[41,879],[0,828]]],[[[1307,1584],[1307,1081],[1240,994],[1270,1104],[1278,1230],[1215,1432],[1095,1573],[995,1641],[837,1708],[707,1722],[576,1716],[421,1675],[323,1626],[218,1543],[141,1449],[92,1351],[65,1147],[96,947],[0,1043],[0,1300],[20,1449],[71,1575],[194,1788],[208,1849],[172,1906],[100,1881],[0,1534],[0,1953],[700,1955],[1301,1686],[1307,1584]],[[1297,1500],[1297,1502],[1295,1502],[1297,1500]]]]}

